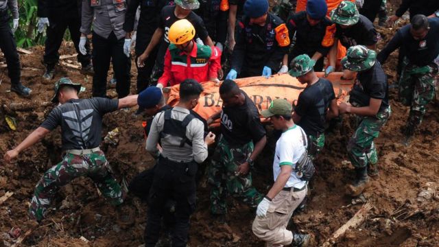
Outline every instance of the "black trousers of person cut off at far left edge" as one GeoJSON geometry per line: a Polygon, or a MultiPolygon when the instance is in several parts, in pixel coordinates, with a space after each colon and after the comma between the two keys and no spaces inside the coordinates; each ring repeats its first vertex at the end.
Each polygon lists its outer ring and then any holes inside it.
{"type": "Polygon", "coordinates": [[[0,11],[0,49],[5,54],[11,85],[19,84],[21,74],[20,57],[16,51],[15,38],[9,26],[9,14],[7,11],[0,11]]]}

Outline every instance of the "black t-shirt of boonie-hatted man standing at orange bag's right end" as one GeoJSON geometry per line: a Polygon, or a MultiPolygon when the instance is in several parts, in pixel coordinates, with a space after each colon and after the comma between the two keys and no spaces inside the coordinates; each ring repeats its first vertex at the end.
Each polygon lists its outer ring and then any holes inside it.
{"type": "Polygon", "coordinates": [[[358,86],[369,97],[382,99],[379,111],[389,106],[387,76],[378,61],[375,62],[372,68],[357,73],[354,86],[358,86]]]}

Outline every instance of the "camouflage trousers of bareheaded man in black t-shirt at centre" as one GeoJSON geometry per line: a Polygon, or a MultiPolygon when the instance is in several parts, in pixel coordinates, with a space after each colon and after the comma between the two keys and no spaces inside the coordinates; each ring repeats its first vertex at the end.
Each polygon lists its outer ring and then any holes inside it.
{"type": "Polygon", "coordinates": [[[237,167],[245,163],[254,149],[253,143],[230,148],[224,137],[219,139],[209,167],[208,181],[211,184],[211,213],[226,214],[226,197],[231,195],[250,207],[257,207],[263,199],[252,186],[252,173],[245,176],[235,174],[237,167]]]}

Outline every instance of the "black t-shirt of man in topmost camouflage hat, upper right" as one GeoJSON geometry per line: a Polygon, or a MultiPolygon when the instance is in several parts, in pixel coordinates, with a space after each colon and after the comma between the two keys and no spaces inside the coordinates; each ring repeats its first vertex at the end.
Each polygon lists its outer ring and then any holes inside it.
{"type": "Polygon", "coordinates": [[[355,25],[343,29],[339,24],[336,25],[335,37],[346,48],[354,45],[375,45],[378,42],[377,30],[373,23],[365,16],[359,15],[359,20],[355,25]]]}

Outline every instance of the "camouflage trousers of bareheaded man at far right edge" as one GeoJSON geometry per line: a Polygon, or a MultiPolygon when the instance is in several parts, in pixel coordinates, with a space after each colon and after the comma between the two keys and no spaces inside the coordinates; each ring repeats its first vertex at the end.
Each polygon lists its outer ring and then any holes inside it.
{"type": "MultiPolygon", "coordinates": [[[[405,58],[404,64],[407,64],[405,58]]],[[[438,65],[431,63],[424,67],[405,65],[399,80],[399,99],[410,106],[407,131],[414,132],[423,121],[427,104],[434,99],[438,65]]]]}

